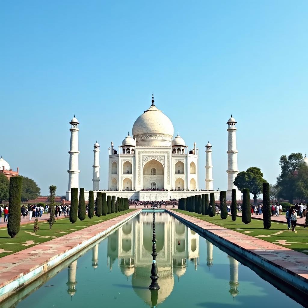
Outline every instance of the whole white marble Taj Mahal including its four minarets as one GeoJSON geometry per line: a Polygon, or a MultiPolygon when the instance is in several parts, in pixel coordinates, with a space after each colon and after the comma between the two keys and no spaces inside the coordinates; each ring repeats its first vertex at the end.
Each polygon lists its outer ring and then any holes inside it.
{"type": "MultiPolygon", "coordinates": [[[[199,148],[196,142],[189,148],[179,133],[174,137],[171,120],[154,104],[145,110],[135,121],[132,135],[124,138],[116,149],[113,142],[108,149],[108,188],[103,188],[107,195],[125,197],[140,201],[166,201],[200,194],[199,190],[199,148]],[[199,193],[198,193],[199,192],[199,193]]],[[[237,147],[235,124],[231,116],[228,120],[228,190],[227,198],[231,199],[231,191],[237,173],[237,147]]],[[[71,188],[79,188],[79,122],[74,118],[70,122],[71,142],[67,200],[70,200],[71,188]]],[[[99,144],[94,144],[93,191],[101,191],[99,187],[99,144]]],[[[215,194],[219,199],[220,191],[213,190],[212,145],[206,148],[205,190],[215,194]]],[[[107,172],[106,172],[107,173],[107,172]]],[[[204,193],[204,190],[202,190],[204,193]]],[[[237,192],[237,199],[241,193],[237,192]]],[[[88,191],[85,191],[85,199],[88,191]]]]}

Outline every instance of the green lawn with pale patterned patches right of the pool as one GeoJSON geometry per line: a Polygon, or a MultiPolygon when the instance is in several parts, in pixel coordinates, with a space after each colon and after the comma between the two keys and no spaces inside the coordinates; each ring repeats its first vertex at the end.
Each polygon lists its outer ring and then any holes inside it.
{"type": "Polygon", "coordinates": [[[236,232],[244,233],[253,237],[261,238],[282,247],[287,247],[302,253],[308,254],[308,229],[302,226],[296,226],[297,233],[288,230],[288,225],[281,222],[272,221],[270,229],[263,228],[263,220],[252,219],[251,222],[245,225],[241,217],[237,217],[236,221],[232,221],[229,215],[227,219],[221,219],[220,215],[214,217],[203,216],[202,214],[190,213],[183,210],[175,210],[188,216],[199,218],[204,221],[211,222],[215,225],[220,225],[227,229],[236,232]]]}

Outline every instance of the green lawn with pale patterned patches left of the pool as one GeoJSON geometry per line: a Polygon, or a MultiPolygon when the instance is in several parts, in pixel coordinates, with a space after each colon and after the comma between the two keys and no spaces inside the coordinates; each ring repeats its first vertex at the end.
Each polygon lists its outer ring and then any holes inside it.
{"type": "Polygon", "coordinates": [[[55,221],[52,229],[49,229],[48,222],[39,223],[39,231],[37,233],[33,232],[33,224],[21,225],[19,233],[14,237],[10,238],[7,234],[7,228],[0,229],[0,257],[18,252],[20,250],[26,249],[30,246],[34,246],[40,243],[44,243],[52,240],[56,237],[61,237],[68,233],[72,233],[76,230],[84,229],[90,227],[91,225],[98,224],[100,222],[109,220],[111,218],[118,217],[120,215],[132,212],[133,209],[126,210],[123,212],[118,212],[106,216],[97,217],[89,219],[88,216],[84,221],[77,221],[72,224],[69,218],[62,218],[55,221]]]}

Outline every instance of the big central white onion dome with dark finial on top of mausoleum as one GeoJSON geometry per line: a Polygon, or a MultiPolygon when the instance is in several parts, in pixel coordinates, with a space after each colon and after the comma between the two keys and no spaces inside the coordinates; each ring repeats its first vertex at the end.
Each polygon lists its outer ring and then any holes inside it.
{"type": "Polygon", "coordinates": [[[136,145],[171,145],[173,138],[173,125],[170,119],[154,105],[135,121],[133,125],[133,138],[136,138],[136,145]]]}

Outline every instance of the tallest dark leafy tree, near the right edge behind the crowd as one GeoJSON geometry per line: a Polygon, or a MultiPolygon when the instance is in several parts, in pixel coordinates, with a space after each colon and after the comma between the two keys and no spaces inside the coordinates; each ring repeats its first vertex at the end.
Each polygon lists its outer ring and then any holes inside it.
{"type": "Polygon", "coordinates": [[[302,153],[292,153],[289,156],[282,155],[279,160],[281,173],[277,177],[277,184],[280,187],[278,197],[287,199],[290,203],[293,203],[296,196],[294,171],[298,170],[302,159],[302,153]]]}

